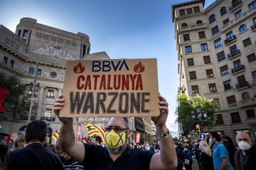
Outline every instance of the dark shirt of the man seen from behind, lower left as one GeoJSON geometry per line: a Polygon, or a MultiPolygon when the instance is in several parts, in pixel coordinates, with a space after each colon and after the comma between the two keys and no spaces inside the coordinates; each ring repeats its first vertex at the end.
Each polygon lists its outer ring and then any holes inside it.
{"type": "Polygon", "coordinates": [[[7,154],[8,169],[64,169],[59,156],[41,144],[30,144],[7,154]]]}

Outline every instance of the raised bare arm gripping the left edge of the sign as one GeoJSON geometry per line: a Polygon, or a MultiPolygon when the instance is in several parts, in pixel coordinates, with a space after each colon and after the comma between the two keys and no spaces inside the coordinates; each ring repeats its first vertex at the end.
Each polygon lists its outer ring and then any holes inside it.
{"type": "Polygon", "coordinates": [[[59,99],[56,100],[53,108],[59,120],[62,121],[61,131],[59,132],[59,144],[68,155],[81,163],[85,156],[85,147],[83,147],[81,142],[75,140],[73,118],[59,117],[59,111],[64,106],[63,102],[63,95],[59,95],[59,99]]]}

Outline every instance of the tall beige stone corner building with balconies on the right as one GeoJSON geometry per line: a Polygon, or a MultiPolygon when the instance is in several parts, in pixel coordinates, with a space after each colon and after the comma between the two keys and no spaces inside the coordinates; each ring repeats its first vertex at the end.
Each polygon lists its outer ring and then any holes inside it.
{"type": "MultiPolygon", "coordinates": [[[[256,1],[216,0],[172,6],[177,44],[178,94],[203,94],[218,105],[217,131],[235,141],[256,131],[256,1]]],[[[190,113],[188,113],[190,114],[190,113]]]]}

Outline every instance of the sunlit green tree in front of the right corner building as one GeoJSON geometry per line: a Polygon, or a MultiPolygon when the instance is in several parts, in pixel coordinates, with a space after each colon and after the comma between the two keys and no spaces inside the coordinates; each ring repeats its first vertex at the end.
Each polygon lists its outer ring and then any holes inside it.
{"type": "MultiPolygon", "coordinates": [[[[200,106],[201,111],[207,112],[207,122],[205,125],[208,128],[215,126],[216,123],[216,105],[212,102],[213,99],[207,99],[203,95],[195,95],[195,97],[180,94],[177,97],[178,106],[175,114],[177,116],[176,122],[182,123],[183,131],[191,131],[194,129],[194,120],[192,119],[191,112],[195,111],[197,106],[200,106]]],[[[198,120],[196,118],[196,120],[198,120]]]]}

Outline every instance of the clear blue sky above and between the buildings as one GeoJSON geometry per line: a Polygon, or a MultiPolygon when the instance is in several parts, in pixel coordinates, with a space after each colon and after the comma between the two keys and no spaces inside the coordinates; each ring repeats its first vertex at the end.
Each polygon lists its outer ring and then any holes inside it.
{"type": "MultiPolygon", "coordinates": [[[[206,0],[205,7],[215,0],[206,0]]],[[[186,0],[0,0],[0,24],[15,32],[23,17],[90,38],[90,53],[111,59],[156,58],[160,94],[169,103],[166,126],[177,132],[179,75],[171,6],[186,0]]]]}

